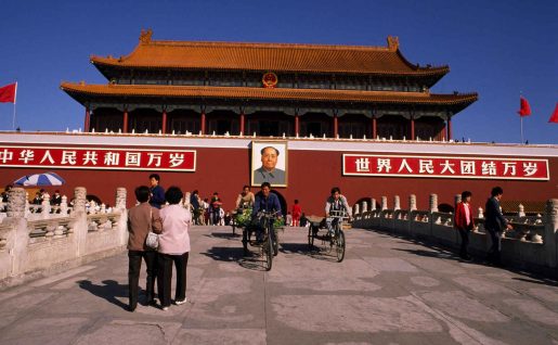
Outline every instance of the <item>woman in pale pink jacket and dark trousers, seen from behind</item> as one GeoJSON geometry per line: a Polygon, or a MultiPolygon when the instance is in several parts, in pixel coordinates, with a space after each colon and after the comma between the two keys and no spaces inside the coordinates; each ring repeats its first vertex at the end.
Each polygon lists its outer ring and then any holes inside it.
{"type": "Polygon", "coordinates": [[[170,306],[170,285],[172,281],[172,263],[177,269],[177,289],[174,304],[186,303],[186,267],[190,253],[189,208],[179,205],[184,194],[178,187],[171,187],[165,193],[168,206],[160,210],[163,231],[159,234],[159,256],[157,285],[160,306],[167,310],[170,306]]]}

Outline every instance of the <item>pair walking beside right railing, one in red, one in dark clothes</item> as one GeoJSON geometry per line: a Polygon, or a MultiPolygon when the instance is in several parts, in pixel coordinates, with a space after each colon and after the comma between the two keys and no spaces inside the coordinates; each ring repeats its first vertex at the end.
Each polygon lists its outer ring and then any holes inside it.
{"type": "MultiPolygon", "coordinates": [[[[503,194],[504,190],[501,187],[494,187],[484,207],[484,229],[486,229],[491,239],[488,260],[494,265],[502,264],[502,233],[512,229],[511,225],[504,218],[499,207],[499,201],[503,194]]],[[[456,205],[454,216],[454,227],[459,231],[462,238],[459,257],[465,260],[471,259],[467,250],[469,245],[469,234],[475,228],[472,208],[470,206],[471,197],[472,193],[469,191],[462,193],[462,201],[456,205]]]]}

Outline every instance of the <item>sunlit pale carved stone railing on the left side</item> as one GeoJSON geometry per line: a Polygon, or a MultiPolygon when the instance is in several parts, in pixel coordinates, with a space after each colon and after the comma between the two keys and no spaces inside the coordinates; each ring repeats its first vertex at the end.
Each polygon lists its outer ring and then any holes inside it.
{"type": "MultiPolygon", "coordinates": [[[[88,214],[85,188],[76,188],[74,205],[29,205],[25,190],[10,191],[0,223],[0,288],[25,281],[33,272],[60,270],[119,253],[128,241],[126,189],[117,189],[115,207],[88,214]],[[41,213],[29,209],[41,207],[41,213]],[[57,210],[61,213],[57,213],[57,210]]],[[[89,205],[91,207],[91,205],[89,205]]]]}

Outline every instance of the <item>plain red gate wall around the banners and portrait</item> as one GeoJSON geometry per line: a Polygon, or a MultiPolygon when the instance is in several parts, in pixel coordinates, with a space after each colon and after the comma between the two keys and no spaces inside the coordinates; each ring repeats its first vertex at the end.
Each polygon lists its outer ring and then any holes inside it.
{"type": "MultiPolygon", "coordinates": [[[[189,149],[189,148],[184,148],[189,149]]],[[[197,168],[195,173],[165,173],[161,186],[179,186],[184,191],[199,190],[203,197],[210,197],[219,192],[224,201],[224,207],[232,209],[237,194],[244,184],[250,181],[250,150],[249,149],[207,149],[196,148],[197,168]]],[[[300,201],[307,214],[322,215],[325,199],[332,187],[337,186],[347,195],[349,203],[361,197],[375,197],[380,202],[382,195],[388,196],[388,206],[393,205],[393,195],[400,195],[401,207],[408,207],[408,195],[416,194],[418,209],[428,208],[430,193],[438,194],[438,203],[453,205],[454,195],[464,190],[472,192],[475,208],[484,208],[484,203],[494,186],[504,189],[504,200],[545,201],[558,197],[558,158],[549,159],[549,181],[516,181],[516,180],[473,180],[473,179],[437,179],[437,178],[379,178],[379,177],[343,177],[341,176],[341,157],[343,153],[327,151],[288,152],[288,188],[277,191],[286,199],[289,207],[295,199],[300,201]]],[[[431,154],[429,154],[431,156],[431,154]]],[[[446,156],[446,155],[445,155],[446,156]]],[[[491,155],[495,156],[495,155],[491,155]]],[[[0,181],[11,183],[23,175],[42,173],[38,168],[0,168],[0,181]]],[[[88,194],[95,194],[103,202],[114,205],[116,188],[128,189],[128,206],[134,204],[133,189],[140,184],[148,184],[152,171],[128,170],[80,170],[53,169],[61,175],[66,184],[60,188],[47,188],[49,192],[60,189],[63,194],[73,196],[75,187],[86,187],[88,194]]],[[[3,187],[3,186],[2,186],[3,187]]],[[[258,191],[252,188],[252,191],[258,191]]],[[[29,195],[33,197],[34,195],[29,195]]]]}

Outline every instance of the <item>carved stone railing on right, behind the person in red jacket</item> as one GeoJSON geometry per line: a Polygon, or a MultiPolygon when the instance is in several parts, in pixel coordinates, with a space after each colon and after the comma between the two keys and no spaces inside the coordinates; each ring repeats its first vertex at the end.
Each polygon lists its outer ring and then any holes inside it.
{"type": "MultiPolygon", "coordinates": [[[[438,210],[436,194],[430,195],[429,210],[414,209],[413,205],[416,205],[416,201],[413,197],[410,197],[408,209],[387,208],[385,202],[387,197],[384,196],[381,200],[381,210],[354,215],[352,226],[427,239],[452,248],[459,247],[460,237],[454,229],[454,215],[438,210]]],[[[549,200],[545,214],[542,216],[524,216],[524,213],[519,212],[516,216],[506,216],[505,218],[514,227],[514,230],[503,234],[503,259],[524,268],[551,269],[556,272],[556,268],[558,268],[558,200],[549,200]]],[[[491,240],[484,230],[482,209],[479,209],[475,223],[476,227],[469,237],[469,248],[473,254],[485,256],[491,247],[491,240]]]]}

